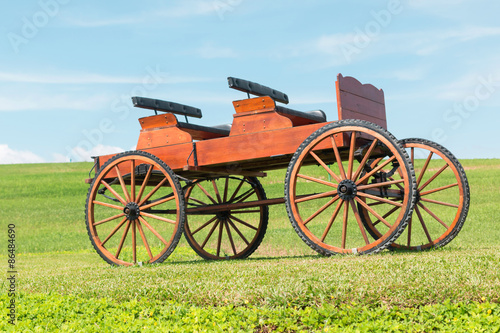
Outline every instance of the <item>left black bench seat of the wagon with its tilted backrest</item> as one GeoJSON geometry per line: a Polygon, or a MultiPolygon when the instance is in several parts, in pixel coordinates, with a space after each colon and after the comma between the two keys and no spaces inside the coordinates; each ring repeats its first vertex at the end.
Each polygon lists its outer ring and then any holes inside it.
{"type": "Polygon", "coordinates": [[[231,129],[231,125],[208,127],[189,123],[187,117],[202,117],[201,110],[192,106],[145,97],[132,97],[132,103],[135,107],[154,110],[156,114],[158,111],[167,113],[163,116],[156,115],[140,118],[139,122],[143,130],[154,130],[159,127],[174,126],[189,133],[193,140],[206,140],[228,136],[231,129]],[[184,116],[186,121],[178,121],[175,116],[176,114],[184,116]]]}

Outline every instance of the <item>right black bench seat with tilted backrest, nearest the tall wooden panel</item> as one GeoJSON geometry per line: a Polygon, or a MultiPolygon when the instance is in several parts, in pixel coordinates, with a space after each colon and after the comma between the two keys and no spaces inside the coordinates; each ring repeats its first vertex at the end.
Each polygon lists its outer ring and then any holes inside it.
{"type": "MultiPolygon", "coordinates": [[[[272,108],[274,110],[290,119],[292,121],[293,126],[301,126],[301,125],[307,125],[307,124],[314,124],[314,123],[322,123],[326,122],[326,114],[322,110],[315,110],[315,111],[297,111],[293,110],[290,108],[286,108],[281,105],[276,105],[276,102],[280,102],[283,104],[288,104],[288,95],[276,90],[272,89],[266,86],[263,86],[259,83],[255,83],[252,81],[248,80],[243,80],[243,79],[238,79],[235,77],[228,77],[227,82],[229,84],[229,88],[236,89],[242,92],[246,92],[248,96],[248,100],[252,100],[250,98],[250,94],[255,95],[255,96],[265,96],[268,98],[272,99],[272,108]]],[[[258,111],[258,108],[255,110],[251,110],[251,108],[255,105],[258,105],[259,103],[250,103],[245,107],[245,103],[242,103],[243,101],[235,101],[233,102],[235,106],[235,110],[237,113],[246,113],[248,111],[258,111]]],[[[264,102],[264,104],[266,104],[264,102]]],[[[267,103],[269,104],[269,103],[267,103]]],[[[269,105],[262,105],[262,110],[269,108],[269,105]]]]}

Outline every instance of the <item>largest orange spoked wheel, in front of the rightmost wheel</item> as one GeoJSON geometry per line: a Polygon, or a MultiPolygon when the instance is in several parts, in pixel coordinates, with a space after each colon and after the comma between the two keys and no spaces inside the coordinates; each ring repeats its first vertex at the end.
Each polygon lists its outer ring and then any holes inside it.
{"type": "Polygon", "coordinates": [[[415,194],[413,168],[400,143],[362,120],[342,120],[314,132],[294,154],[285,179],[292,226],[324,255],[387,248],[406,227],[415,194]],[[369,162],[375,159],[380,163],[372,169],[369,162]],[[382,168],[399,172],[380,181],[375,175],[382,168]],[[358,204],[382,221],[381,237],[371,239],[366,232],[358,204]],[[380,209],[386,204],[393,207],[390,216],[380,209]]]}

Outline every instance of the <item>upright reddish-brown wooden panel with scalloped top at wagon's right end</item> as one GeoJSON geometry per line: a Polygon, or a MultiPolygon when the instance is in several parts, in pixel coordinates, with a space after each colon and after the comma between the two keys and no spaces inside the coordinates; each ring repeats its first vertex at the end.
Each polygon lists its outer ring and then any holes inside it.
{"type": "Polygon", "coordinates": [[[387,129],[384,91],[362,84],[353,77],[337,75],[337,108],[339,120],[362,119],[387,129]]]}

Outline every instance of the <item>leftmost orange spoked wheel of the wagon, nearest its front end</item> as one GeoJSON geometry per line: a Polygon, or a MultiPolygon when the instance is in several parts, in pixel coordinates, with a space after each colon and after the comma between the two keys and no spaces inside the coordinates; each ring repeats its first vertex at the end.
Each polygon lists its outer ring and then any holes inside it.
{"type": "Polygon", "coordinates": [[[161,263],[182,235],[184,196],[160,159],[125,152],[106,162],[92,181],[85,213],[90,241],[106,262],[161,263]]]}

